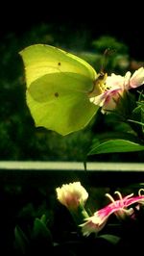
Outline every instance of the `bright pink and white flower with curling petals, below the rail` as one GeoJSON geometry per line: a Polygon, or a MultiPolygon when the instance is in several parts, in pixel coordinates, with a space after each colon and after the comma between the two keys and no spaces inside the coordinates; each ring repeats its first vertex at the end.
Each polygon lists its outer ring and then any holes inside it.
{"type": "Polygon", "coordinates": [[[90,233],[98,233],[106,225],[108,217],[111,214],[115,214],[118,218],[125,218],[125,216],[132,216],[133,209],[129,208],[134,203],[144,204],[144,195],[139,194],[137,196],[132,196],[129,194],[122,197],[120,192],[115,192],[119,196],[119,200],[114,200],[110,194],[106,194],[108,198],[112,201],[108,206],[97,211],[92,217],[85,218],[85,222],[81,224],[82,232],[84,236],[89,236],[90,233]]]}

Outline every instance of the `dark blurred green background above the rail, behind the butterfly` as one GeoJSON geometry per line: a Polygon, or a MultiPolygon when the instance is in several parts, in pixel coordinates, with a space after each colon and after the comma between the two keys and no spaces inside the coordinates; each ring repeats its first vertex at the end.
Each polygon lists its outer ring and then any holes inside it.
{"type": "MultiPolygon", "coordinates": [[[[123,3],[110,2],[1,4],[0,160],[83,161],[94,137],[120,129],[111,127],[111,117],[103,118],[101,113],[84,130],[66,137],[36,128],[26,105],[24,67],[18,52],[35,43],[51,44],[80,56],[99,72],[104,51],[111,48],[114,53],[108,57],[106,71],[133,72],[144,60],[140,12],[139,6],[127,10],[123,3]]],[[[143,153],[107,154],[90,160],[143,162],[143,153]]]]}

